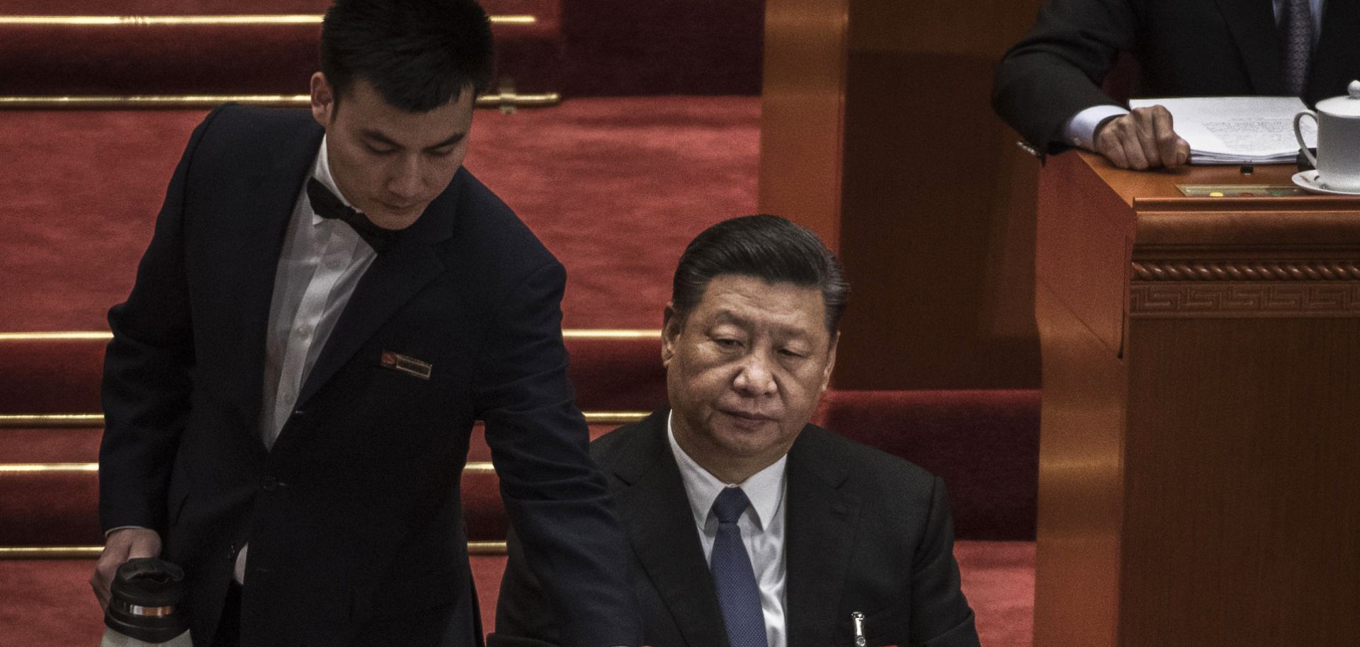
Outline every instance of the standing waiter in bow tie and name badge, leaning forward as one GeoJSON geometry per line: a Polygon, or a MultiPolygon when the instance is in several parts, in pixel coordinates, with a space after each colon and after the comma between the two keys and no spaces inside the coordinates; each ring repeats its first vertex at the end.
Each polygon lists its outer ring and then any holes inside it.
{"type": "Polygon", "coordinates": [[[95,593],[160,555],[197,646],[480,644],[458,484],[484,420],[574,639],[638,644],[563,268],[461,169],[486,12],[340,0],[321,52],[310,114],[199,125],[109,313],[95,593]]]}

